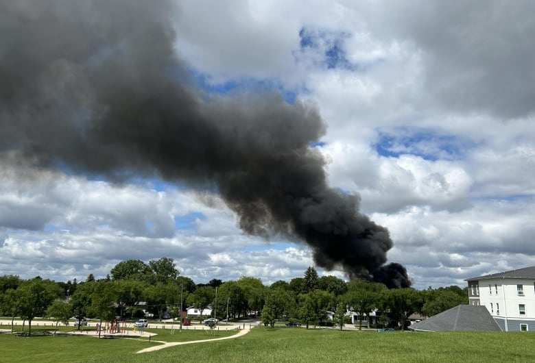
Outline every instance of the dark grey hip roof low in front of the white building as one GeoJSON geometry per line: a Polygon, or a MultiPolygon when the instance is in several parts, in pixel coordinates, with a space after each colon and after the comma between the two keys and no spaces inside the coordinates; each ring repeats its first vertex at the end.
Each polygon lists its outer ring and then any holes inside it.
{"type": "Polygon", "coordinates": [[[457,305],[455,308],[414,323],[415,331],[501,331],[487,308],[482,305],[457,305]]]}

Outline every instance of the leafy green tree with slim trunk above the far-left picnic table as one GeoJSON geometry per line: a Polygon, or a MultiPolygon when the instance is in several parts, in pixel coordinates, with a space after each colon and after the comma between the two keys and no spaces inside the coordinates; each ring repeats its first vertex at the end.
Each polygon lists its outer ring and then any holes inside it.
{"type": "Polygon", "coordinates": [[[59,286],[40,277],[23,281],[16,289],[19,297],[21,317],[28,321],[28,335],[32,335],[32,321],[36,316],[45,315],[52,301],[62,295],[59,286]]]}

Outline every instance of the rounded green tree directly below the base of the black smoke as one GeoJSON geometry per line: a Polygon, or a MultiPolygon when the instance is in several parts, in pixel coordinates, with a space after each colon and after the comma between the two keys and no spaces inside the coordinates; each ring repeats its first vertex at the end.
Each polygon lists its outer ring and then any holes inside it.
{"type": "Polygon", "coordinates": [[[390,318],[405,330],[405,323],[410,314],[420,311],[423,299],[420,292],[413,288],[392,288],[382,295],[384,310],[390,310],[390,318]]]}

